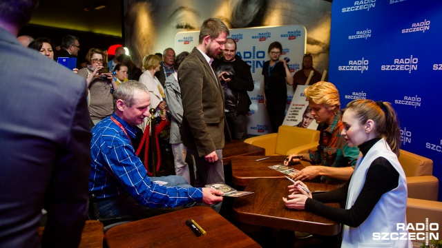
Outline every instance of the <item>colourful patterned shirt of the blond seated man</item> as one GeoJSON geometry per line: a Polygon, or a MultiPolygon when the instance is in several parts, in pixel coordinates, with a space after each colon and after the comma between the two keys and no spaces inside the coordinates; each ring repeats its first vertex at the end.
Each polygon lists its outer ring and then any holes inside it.
{"type": "MultiPolygon", "coordinates": [[[[314,164],[329,167],[348,167],[356,165],[359,156],[358,147],[349,147],[344,136],[340,135],[344,129],[343,122],[340,120],[340,112],[336,114],[332,124],[322,123],[318,125],[320,130],[318,149],[310,151],[309,156],[314,164]]],[[[345,182],[334,178],[321,176],[322,181],[333,181],[333,183],[345,182]]]]}

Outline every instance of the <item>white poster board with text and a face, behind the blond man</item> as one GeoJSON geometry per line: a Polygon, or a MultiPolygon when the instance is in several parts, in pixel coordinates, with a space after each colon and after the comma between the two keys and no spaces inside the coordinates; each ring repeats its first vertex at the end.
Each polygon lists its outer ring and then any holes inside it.
{"type": "Polygon", "coordinates": [[[304,90],[307,87],[309,87],[309,85],[298,85],[298,87],[296,87],[296,92],[293,95],[282,125],[308,128],[311,130],[316,130],[318,127],[318,123],[316,123],[314,116],[311,114],[309,100],[304,94],[304,90]]]}

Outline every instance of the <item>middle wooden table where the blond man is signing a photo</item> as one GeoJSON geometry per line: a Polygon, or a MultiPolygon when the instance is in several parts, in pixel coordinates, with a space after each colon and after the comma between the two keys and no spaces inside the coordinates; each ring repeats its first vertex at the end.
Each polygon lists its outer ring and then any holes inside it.
{"type": "MultiPolygon", "coordinates": [[[[241,156],[232,158],[233,184],[247,186],[254,178],[285,178],[284,176],[287,175],[269,168],[270,165],[282,164],[285,158],[287,158],[287,156],[241,156]],[[269,159],[256,161],[259,158],[266,157],[269,157],[269,159]]],[[[302,163],[291,165],[290,167],[299,170],[304,169],[302,163]]]]}

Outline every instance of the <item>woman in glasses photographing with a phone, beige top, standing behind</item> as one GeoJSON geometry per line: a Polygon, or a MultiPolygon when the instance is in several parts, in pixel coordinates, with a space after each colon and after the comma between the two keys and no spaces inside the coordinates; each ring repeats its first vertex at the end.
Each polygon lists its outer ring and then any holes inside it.
{"type": "Polygon", "coordinates": [[[88,65],[78,71],[80,76],[86,79],[88,85],[89,114],[94,125],[113,112],[113,91],[118,85],[113,80],[104,61],[104,52],[97,48],[90,48],[86,54],[88,65]]]}

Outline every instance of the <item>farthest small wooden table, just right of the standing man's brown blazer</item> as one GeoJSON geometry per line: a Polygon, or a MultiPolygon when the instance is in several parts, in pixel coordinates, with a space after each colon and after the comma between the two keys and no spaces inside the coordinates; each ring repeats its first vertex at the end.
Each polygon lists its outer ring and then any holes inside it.
{"type": "Polygon", "coordinates": [[[231,158],[233,157],[253,155],[265,155],[265,149],[242,141],[226,142],[224,148],[222,148],[222,163],[224,163],[224,165],[229,165],[231,163],[231,158]]]}

